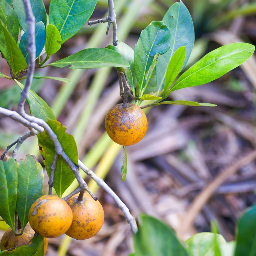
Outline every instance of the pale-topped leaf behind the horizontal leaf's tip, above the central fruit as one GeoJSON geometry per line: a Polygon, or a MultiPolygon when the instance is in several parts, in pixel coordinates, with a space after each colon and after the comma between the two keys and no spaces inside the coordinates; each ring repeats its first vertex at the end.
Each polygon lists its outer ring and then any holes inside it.
{"type": "Polygon", "coordinates": [[[130,85],[130,88],[133,92],[133,96],[135,97],[135,87],[136,87],[136,76],[134,71],[134,50],[129,47],[126,43],[119,42],[117,46],[109,45],[107,48],[112,49],[118,53],[121,53],[128,61],[129,67],[127,68],[117,68],[119,72],[124,72],[126,75],[126,80],[130,85]]]}

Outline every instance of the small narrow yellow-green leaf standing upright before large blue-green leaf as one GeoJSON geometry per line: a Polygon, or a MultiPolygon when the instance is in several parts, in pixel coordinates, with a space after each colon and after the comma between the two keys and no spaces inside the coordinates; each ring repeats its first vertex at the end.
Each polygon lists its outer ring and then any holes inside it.
{"type": "Polygon", "coordinates": [[[180,73],[185,60],[185,56],[186,56],[186,46],[181,46],[176,50],[174,55],[172,55],[166,70],[163,96],[167,97],[169,95],[167,90],[172,85],[177,75],[180,73]]]}

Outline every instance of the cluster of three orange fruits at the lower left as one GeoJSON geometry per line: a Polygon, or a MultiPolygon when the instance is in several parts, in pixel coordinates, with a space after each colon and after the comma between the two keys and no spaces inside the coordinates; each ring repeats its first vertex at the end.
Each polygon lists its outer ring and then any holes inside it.
{"type": "Polygon", "coordinates": [[[28,219],[22,235],[17,236],[11,228],[7,229],[1,240],[1,251],[31,244],[34,231],[44,237],[44,254],[46,238],[55,238],[64,233],[79,240],[91,238],[101,229],[104,212],[101,203],[87,193],[82,198],[75,194],[68,201],[49,194],[32,204],[28,219]]]}

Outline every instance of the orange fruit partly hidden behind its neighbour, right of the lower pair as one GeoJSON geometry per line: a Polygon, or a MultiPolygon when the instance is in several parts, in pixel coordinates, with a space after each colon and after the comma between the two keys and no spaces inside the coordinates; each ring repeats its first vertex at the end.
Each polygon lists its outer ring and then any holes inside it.
{"type": "Polygon", "coordinates": [[[100,231],[104,221],[104,212],[101,203],[95,201],[89,194],[84,193],[82,201],[78,198],[79,194],[75,194],[67,201],[73,211],[73,221],[65,234],[83,240],[91,238],[100,231]]]}

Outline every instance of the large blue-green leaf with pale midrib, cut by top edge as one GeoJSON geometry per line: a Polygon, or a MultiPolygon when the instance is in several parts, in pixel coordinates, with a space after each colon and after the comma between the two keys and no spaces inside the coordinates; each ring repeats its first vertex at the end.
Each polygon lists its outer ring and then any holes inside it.
{"type": "Polygon", "coordinates": [[[63,44],[89,20],[97,0],[51,0],[49,22],[60,32],[63,44]]]}

